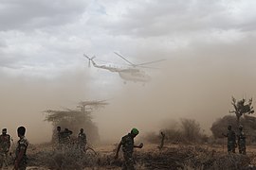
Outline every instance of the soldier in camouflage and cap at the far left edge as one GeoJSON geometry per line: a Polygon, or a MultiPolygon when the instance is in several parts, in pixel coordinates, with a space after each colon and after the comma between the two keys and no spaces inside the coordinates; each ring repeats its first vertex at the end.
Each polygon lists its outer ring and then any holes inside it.
{"type": "Polygon", "coordinates": [[[8,166],[7,157],[10,146],[10,136],[7,134],[7,128],[2,129],[2,134],[0,135],[0,168],[3,167],[5,163],[8,166]]]}

